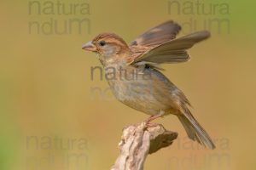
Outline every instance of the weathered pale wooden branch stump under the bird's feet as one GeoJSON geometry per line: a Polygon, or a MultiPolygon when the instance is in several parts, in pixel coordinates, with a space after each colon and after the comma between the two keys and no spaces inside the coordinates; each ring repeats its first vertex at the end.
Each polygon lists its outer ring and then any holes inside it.
{"type": "Polygon", "coordinates": [[[120,154],[111,170],[143,170],[148,154],[165,148],[177,139],[177,133],[162,125],[147,126],[145,122],[125,127],[119,142],[120,154]]]}

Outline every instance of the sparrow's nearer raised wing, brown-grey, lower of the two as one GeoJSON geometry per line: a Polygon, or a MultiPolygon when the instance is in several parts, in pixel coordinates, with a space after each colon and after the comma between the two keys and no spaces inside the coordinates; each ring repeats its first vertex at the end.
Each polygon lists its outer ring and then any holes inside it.
{"type": "Polygon", "coordinates": [[[131,65],[140,65],[139,63],[179,63],[189,60],[187,49],[191,48],[197,42],[210,37],[209,31],[198,31],[184,37],[180,37],[169,42],[165,42],[141,54],[134,54],[131,56],[133,61],[131,65]]]}

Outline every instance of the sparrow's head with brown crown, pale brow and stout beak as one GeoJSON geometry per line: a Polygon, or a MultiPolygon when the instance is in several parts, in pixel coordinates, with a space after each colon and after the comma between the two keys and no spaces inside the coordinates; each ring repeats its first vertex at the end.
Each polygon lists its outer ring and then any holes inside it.
{"type": "Polygon", "coordinates": [[[83,46],[84,50],[92,51],[99,55],[103,64],[125,61],[131,53],[126,42],[113,33],[102,33],[83,46]]]}

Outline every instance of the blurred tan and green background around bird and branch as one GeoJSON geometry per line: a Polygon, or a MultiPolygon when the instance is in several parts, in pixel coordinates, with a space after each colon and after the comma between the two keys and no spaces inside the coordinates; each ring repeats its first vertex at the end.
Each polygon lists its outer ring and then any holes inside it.
{"type": "Polygon", "coordinates": [[[145,169],[256,168],[256,3],[38,0],[30,6],[32,2],[0,2],[1,170],[110,169],[122,128],[147,115],[113,99],[99,73],[91,80],[90,68],[100,63],[81,46],[102,31],[131,42],[166,20],[183,26],[180,35],[212,32],[189,50],[191,61],[164,68],[191,101],[217,149],[204,150],[189,141],[177,117],[166,116],[156,122],[178,132],[178,139],[148,156],[145,169]],[[76,13],[58,12],[58,2],[66,11],[78,4],[76,13]],[[84,19],[82,26],[65,31],[63,23],[84,19]],[[51,20],[56,25],[45,24],[51,20]]]}

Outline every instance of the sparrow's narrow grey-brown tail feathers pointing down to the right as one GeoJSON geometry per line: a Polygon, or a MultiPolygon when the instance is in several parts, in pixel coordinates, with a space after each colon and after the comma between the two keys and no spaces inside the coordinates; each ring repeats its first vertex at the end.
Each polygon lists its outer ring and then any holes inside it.
{"type": "Polygon", "coordinates": [[[196,140],[198,143],[203,144],[209,149],[214,149],[215,145],[212,142],[212,139],[207,134],[207,132],[201,127],[199,122],[197,122],[190,113],[189,110],[186,110],[186,114],[178,115],[178,119],[182,122],[183,127],[188,133],[189,139],[196,140]]]}

